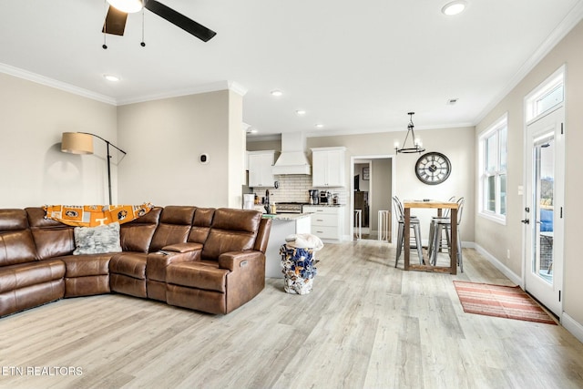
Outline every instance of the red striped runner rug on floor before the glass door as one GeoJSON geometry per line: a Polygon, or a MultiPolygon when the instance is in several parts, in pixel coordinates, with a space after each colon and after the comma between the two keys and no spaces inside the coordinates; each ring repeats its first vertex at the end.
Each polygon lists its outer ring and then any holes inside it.
{"type": "Polygon", "coordinates": [[[464,312],[557,324],[527,292],[519,286],[455,281],[455,292],[464,312]]]}

